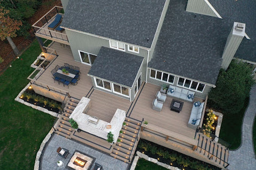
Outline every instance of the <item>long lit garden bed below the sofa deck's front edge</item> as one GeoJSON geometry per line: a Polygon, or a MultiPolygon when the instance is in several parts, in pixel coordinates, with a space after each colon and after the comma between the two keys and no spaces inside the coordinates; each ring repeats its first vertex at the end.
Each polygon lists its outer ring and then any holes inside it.
{"type": "Polygon", "coordinates": [[[158,162],[178,167],[180,169],[212,169],[220,170],[220,168],[181,154],[180,152],[157,145],[156,143],[141,139],[138,143],[137,150],[149,157],[155,158],[158,162]]]}

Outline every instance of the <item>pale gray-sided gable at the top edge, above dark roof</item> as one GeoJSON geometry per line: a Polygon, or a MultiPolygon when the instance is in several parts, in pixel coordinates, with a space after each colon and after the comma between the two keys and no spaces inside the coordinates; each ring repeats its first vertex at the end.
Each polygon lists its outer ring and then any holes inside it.
{"type": "Polygon", "coordinates": [[[204,0],[188,0],[186,11],[218,17],[204,0]]]}

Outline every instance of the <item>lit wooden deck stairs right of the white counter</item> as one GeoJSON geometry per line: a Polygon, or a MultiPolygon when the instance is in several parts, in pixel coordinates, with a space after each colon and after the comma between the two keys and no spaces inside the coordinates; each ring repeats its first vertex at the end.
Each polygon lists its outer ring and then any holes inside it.
{"type": "Polygon", "coordinates": [[[131,159],[138,144],[137,135],[140,132],[141,121],[126,117],[125,126],[122,127],[123,133],[119,134],[121,142],[117,142],[112,150],[111,156],[131,163],[131,159]]]}

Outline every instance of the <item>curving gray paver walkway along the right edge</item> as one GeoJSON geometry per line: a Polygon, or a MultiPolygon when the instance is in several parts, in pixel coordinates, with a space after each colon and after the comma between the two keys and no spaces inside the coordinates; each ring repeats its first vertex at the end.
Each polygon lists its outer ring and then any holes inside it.
{"type": "Polygon", "coordinates": [[[245,112],[242,129],[242,146],[234,151],[229,151],[228,169],[230,170],[255,170],[256,160],[253,149],[252,129],[256,114],[256,86],[250,91],[250,103],[245,112]]]}

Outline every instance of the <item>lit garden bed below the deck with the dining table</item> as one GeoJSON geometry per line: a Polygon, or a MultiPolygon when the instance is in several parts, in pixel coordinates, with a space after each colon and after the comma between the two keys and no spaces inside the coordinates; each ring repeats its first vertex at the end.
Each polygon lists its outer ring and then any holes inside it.
{"type": "Polygon", "coordinates": [[[31,86],[22,93],[20,99],[55,113],[59,113],[61,109],[61,103],[59,101],[36,94],[31,86]]]}

